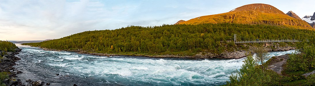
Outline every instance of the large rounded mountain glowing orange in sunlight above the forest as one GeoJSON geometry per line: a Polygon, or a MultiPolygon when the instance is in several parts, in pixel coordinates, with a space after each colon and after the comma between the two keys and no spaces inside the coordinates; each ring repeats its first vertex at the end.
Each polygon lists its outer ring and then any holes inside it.
{"type": "Polygon", "coordinates": [[[306,22],[292,18],[271,5],[260,3],[244,5],[227,13],[197,17],[179,24],[205,23],[270,24],[312,30],[306,22]]]}

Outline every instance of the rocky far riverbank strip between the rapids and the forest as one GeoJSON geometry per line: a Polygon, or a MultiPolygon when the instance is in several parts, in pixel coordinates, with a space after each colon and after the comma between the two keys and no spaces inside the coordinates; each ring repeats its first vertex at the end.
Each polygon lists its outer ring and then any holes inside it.
{"type": "MultiPolygon", "coordinates": [[[[146,57],[155,57],[155,58],[165,58],[165,57],[174,57],[174,58],[243,58],[246,57],[246,53],[248,53],[251,50],[254,50],[255,48],[259,46],[263,46],[267,51],[289,51],[289,50],[294,50],[295,47],[292,46],[294,45],[294,42],[290,42],[289,44],[280,44],[276,42],[271,42],[271,43],[261,43],[259,45],[255,45],[253,43],[243,43],[243,44],[238,44],[238,46],[243,46],[245,49],[239,49],[239,48],[234,48],[232,51],[224,51],[221,54],[213,53],[211,51],[200,51],[192,56],[188,55],[170,55],[170,54],[163,54],[163,55],[157,55],[157,54],[148,54],[148,53],[135,53],[135,52],[122,52],[122,53],[96,53],[96,52],[90,52],[90,51],[83,51],[83,50],[55,50],[55,49],[48,49],[48,48],[43,48],[38,46],[39,48],[42,48],[43,50],[46,51],[75,51],[77,53],[83,53],[83,54],[90,54],[90,55],[97,55],[97,56],[146,56],[146,57]]],[[[237,45],[236,45],[237,46],[237,45]]]]}

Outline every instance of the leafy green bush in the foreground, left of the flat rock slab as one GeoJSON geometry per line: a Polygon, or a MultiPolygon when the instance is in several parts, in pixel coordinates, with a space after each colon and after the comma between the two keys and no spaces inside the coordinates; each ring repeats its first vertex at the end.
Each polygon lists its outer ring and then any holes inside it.
{"type": "Polygon", "coordinates": [[[230,82],[226,86],[266,86],[278,85],[281,76],[277,73],[266,70],[265,72],[257,65],[252,56],[244,60],[238,74],[230,76],[230,82]]]}

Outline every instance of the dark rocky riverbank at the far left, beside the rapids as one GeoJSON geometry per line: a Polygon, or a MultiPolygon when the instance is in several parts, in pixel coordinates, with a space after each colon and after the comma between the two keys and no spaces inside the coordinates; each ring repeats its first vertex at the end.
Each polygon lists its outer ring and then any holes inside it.
{"type": "Polygon", "coordinates": [[[22,73],[16,70],[13,66],[17,65],[15,62],[20,60],[20,58],[14,56],[15,54],[19,54],[22,49],[16,48],[14,52],[4,52],[0,50],[0,72],[8,73],[9,78],[1,81],[8,86],[25,86],[22,85],[20,79],[16,77],[16,74],[22,73]]]}

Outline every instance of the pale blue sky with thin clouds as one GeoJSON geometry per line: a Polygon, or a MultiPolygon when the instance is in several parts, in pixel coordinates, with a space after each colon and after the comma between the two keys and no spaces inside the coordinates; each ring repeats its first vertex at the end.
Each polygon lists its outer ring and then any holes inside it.
{"type": "Polygon", "coordinates": [[[252,3],[299,17],[313,0],[0,0],[0,40],[46,40],[92,30],[175,24],[252,3]]]}

